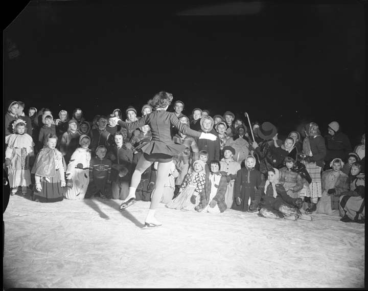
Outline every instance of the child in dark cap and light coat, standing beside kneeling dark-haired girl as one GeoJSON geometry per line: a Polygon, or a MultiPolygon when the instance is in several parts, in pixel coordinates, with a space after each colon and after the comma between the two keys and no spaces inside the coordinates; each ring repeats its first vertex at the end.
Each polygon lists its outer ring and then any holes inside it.
{"type": "Polygon", "coordinates": [[[226,177],[226,192],[225,203],[227,208],[231,208],[234,200],[234,183],[237,177],[237,172],[240,170],[240,164],[234,161],[233,156],[235,149],[231,146],[223,148],[224,158],[220,161],[220,171],[225,173],[226,177]]]}

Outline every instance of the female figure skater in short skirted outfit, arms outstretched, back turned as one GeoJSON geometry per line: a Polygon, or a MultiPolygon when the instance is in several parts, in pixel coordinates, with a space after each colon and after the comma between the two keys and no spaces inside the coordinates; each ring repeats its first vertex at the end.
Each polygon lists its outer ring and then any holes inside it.
{"type": "Polygon", "coordinates": [[[181,153],[185,149],[184,145],[175,144],[172,141],[170,128],[174,126],[185,135],[199,139],[215,141],[217,138],[212,133],[198,132],[190,129],[180,123],[174,113],[167,112],[166,109],[171,104],[172,99],[172,94],[161,91],[148,101],[148,104],[154,109],[152,113],[147,114],[134,122],[128,123],[118,120],[118,124],[121,127],[126,128],[128,131],[142,127],[146,124],[151,127],[152,140],[142,147],[143,155],[138,161],[132,175],[129,194],[120,206],[120,209],[125,209],[135,203],[135,190],[141,181],[142,173],[154,162],[158,162],[156,185],[152,192],[151,205],[145,220],[145,228],[153,228],[162,225],[162,223],[154,217],[154,213],[161,200],[165,182],[170,172],[170,162],[172,161],[172,157],[173,155],[181,153]]]}

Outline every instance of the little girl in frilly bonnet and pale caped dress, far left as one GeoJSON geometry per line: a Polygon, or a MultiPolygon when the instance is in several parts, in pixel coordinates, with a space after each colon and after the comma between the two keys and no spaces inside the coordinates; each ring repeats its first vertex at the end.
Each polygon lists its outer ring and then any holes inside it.
{"type": "Polygon", "coordinates": [[[32,184],[29,168],[29,157],[34,155],[32,137],[26,133],[26,122],[17,119],[13,122],[13,132],[5,137],[8,145],[5,151],[5,165],[8,167],[8,177],[11,194],[14,195],[21,186],[23,195],[32,184]]]}

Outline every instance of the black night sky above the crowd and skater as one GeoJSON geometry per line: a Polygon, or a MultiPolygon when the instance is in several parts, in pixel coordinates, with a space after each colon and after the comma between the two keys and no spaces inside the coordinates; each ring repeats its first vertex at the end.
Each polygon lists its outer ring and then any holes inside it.
{"type": "Polygon", "coordinates": [[[4,30],[20,52],[5,54],[5,101],[50,107],[54,117],[81,107],[92,119],[128,105],[139,111],[165,90],[188,115],[194,107],[242,118],[247,111],[284,134],[304,119],[327,133],[337,120],[353,144],[360,140],[366,47],[359,2],[137,3],[31,2],[4,30]]]}

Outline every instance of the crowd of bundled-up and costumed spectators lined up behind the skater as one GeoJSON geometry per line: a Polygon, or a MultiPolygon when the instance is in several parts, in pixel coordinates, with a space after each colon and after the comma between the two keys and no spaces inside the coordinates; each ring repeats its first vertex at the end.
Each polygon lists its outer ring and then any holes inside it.
{"type": "MultiPolygon", "coordinates": [[[[325,213],[364,222],[365,134],[353,150],[338,122],[329,124],[325,137],[310,122],[280,140],[271,122],[247,126],[231,111],[211,117],[209,110],[200,108],[187,117],[184,108],[178,100],[169,115],[183,125],[181,131],[172,126],[172,144],[185,149],[170,161],[160,197],[168,208],[259,211],[263,217],[291,220],[325,213]],[[216,140],[188,136],[185,128],[212,133],[216,140]]],[[[60,110],[57,119],[49,108],[29,107],[26,115],[21,101],[10,101],[7,109],[4,168],[11,193],[32,192],[36,202],[94,196],[124,201],[132,195],[131,179],[142,155],[148,146],[154,150],[152,138],[156,147],[159,144],[148,124],[141,122],[139,129],[126,126],[152,114],[155,108],[149,104],[142,107],[142,117],[128,106],[125,122],[119,121],[119,108],[90,122],[81,108],[75,108],[71,118],[60,110]]],[[[175,151],[175,146],[167,147],[175,151]]],[[[141,182],[133,189],[135,199],[151,199],[158,165],[142,170],[141,182]]]]}

